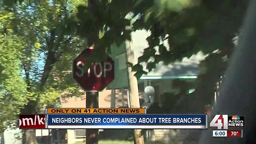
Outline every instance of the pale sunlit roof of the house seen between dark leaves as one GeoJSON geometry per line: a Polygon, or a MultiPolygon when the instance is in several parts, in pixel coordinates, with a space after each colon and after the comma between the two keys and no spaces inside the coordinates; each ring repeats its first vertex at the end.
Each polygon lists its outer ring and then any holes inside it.
{"type": "MultiPolygon", "coordinates": [[[[150,32],[146,30],[137,30],[132,33],[135,63],[138,62],[138,58],[143,54],[143,50],[148,47],[146,38],[149,35],[150,32]]],[[[164,41],[163,44],[169,49],[167,41],[164,41]]],[[[156,47],[156,51],[158,53],[158,47],[156,47]]],[[[196,75],[199,73],[198,65],[205,57],[205,54],[198,52],[190,58],[183,58],[182,61],[173,62],[167,66],[164,65],[163,62],[159,62],[155,69],[150,71],[147,75],[143,75],[141,78],[154,78],[153,76],[158,76],[158,78],[186,78],[186,76],[194,76],[190,78],[196,78],[196,75]]],[[[146,64],[143,65],[143,68],[146,70],[146,64]]]]}

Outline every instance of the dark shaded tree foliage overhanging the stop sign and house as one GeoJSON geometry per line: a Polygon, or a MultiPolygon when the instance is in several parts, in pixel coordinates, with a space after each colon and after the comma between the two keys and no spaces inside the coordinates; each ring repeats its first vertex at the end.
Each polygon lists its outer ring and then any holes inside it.
{"type": "MultiPolygon", "coordinates": [[[[8,6],[18,3],[14,0],[3,2],[8,6]]],[[[191,98],[199,100],[193,105],[197,105],[200,101],[201,104],[212,103],[210,96],[214,94],[215,84],[220,80],[220,76],[223,76],[228,64],[228,61],[223,58],[229,58],[232,52],[232,39],[239,32],[249,1],[188,0],[182,2],[178,0],[101,0],[96,6],[97,9],[93,10],[85,5],[79,5],[77,12],[68,15],[56,32],[88,38],[94,29],[103,29],[103,36],[99,42],[95,43],[95,47],[98,47],[97,52],[87,62],[91,63],[105,59],[106,51],[111,53],[112,44],[115,43],[118,46],[126,39],[131,39],[132,31],[150,30],[151,35],[147,37],[149,46],[139,57],[137,65],[133,66],[133,70],[136,71],[135,76],[138,78],[153,70],[160,61],[167,65],[184,57],[190,57],[199,51],[209,54],[201,63],[202,70],[198,76],[196,91],[192,93],[191,98]],[[139,19],[133,23],[132,30],[126,29],[126,26],[131,23],[130,20],[125,19],[129,12],[134,16],[140,15],[139,19]],[[161,41],[167,41],[169,47],[165,47],[161,41]],[[156,54],[156,46],[159,47],[159,54],[156,54]],[[218,53],[212,53],[217,49],[218,53]],[[149,61],[152,58],[153,60],[149,61]],[[147,63],[148,71],[143,71],[142,63],[147,63]]]]}

